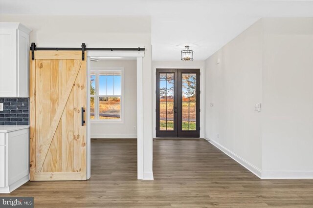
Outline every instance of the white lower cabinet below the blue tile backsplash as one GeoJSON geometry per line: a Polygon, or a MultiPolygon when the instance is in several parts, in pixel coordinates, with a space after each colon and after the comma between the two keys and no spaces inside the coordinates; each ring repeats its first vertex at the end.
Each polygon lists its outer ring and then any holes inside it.
{"type": "Polygon", "coordinates": [[[29,181],[29,128],[9,128],[0,128],[0,193],[10,193],[29,181]]]}

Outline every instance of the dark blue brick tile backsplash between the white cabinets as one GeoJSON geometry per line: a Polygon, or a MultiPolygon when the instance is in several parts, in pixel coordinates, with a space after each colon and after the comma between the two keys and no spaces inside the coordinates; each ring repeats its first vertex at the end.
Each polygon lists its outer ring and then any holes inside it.
{"type": "Polygon", "coordinates": [[[0,98],[0,125],[29,125],[29,98],[0,98]]]}

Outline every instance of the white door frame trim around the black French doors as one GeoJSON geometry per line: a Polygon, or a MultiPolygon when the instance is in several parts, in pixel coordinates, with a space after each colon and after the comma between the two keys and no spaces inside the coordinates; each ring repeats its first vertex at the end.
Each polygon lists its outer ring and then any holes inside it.
{"type": "MultiPolygon", "coordinates": [[[[204,100],[204,95],[205,95],[205,83],[204,83],[204,77],[205,77],[205,72],[204,68],[202,66],[175,66],[175,65],[169,65],[169,66],[164,66],[164,65],[155,65],[153,66],[153,79],[152,79],[152,136],[153,138],[163,138],[163,137],[156,137],[156,69],[200,69],[200,138],[204,138],[204,129],[205,129],[205,100],[204,100]]],[[[180,137],[164,137],[164,139],[188,139],[187,138],[180,138],[180,137]]],[[[199,138],[196,138],[199,139],[199,138]]]]}

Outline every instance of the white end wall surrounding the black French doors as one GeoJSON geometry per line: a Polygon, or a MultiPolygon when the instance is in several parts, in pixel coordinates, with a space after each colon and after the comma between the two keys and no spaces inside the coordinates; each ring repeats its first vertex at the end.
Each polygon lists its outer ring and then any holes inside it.
{"type": "MultiPolygon", "coordinates": [[[[204,91],[205,91],[205,82],[204,82],[204,76],[205,76],[205,69],[204,69],[204,61],[153,61],[152,62],[152,67],[153,67],[153,74],[152,74],[152,94],[153,94],[153,99],[152,99],[152,106],[153,109],[156,109],[156,69],[157,68],[173,68],[173,69],[178,69],[178,68],[193,68],[193,69],[200,69],[201,76],[200,76],[200,138],[204,138],[205,135],[205,117],[204,117],[204,112],[205,112],[205,98],[204,98],[204,91]]],[[[156,138],[156,111],[153,111],[153,138],[156,138]]]]}

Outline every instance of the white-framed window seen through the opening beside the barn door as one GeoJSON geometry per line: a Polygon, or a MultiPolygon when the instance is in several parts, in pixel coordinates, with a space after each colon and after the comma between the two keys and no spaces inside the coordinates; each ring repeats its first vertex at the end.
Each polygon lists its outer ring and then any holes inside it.
{"type": "Polygon", "coordinates": [[[123,68],[91,69],[90,120],[92,123],[123,122],[123,68]]]}

